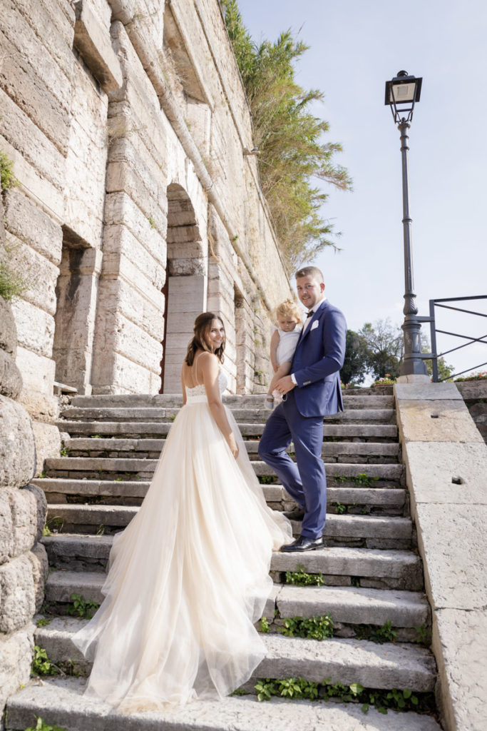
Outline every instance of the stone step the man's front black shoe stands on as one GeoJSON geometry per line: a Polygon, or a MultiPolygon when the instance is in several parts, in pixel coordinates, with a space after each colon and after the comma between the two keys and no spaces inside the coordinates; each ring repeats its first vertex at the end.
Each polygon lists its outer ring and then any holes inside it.
{"type": "MultiPolygon", "coordinates": [[[[42,538],[53,569],[104,572],[112,548],[111,535],[53,534],[42,538]]],[[[271,575],[276,583],[285,572],[321,574],[326,586],[360,586],[421,591],[421,559],[404,550],[327,548],[307,553],[272,554],[271,575]]]]}

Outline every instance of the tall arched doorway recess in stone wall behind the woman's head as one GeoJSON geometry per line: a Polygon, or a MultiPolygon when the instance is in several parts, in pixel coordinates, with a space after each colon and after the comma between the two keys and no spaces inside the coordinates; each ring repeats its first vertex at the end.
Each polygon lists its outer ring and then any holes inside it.
{"type": "Polygon", "coordinates": [[[166,304],[161,361],[161,393],[180,393],[181,363],[193,335],[193,323],[206,309],[208,255],[193,204],[185,189],[167,189],[166,304]]]}

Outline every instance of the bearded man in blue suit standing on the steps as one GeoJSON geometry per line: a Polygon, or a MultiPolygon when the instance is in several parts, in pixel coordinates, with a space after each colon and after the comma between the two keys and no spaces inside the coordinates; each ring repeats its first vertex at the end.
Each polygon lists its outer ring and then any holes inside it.
{"type": "Polygon", "coordinates": [[[343,411],[340,368],[345,357],[347,324],[342,312],[324,296],[323,274],[316,267],[296,272],[298,297],[307,307],[291,374],[276,384],[287,394],[267,420],[258,454],[274,469],[286,491],[302,509],[292,518],[302,518],[301,535],[286,552],[323,546],[326,517],[326,474],[323,446],[323,416],[343,411]],[[294,442],[296,463],[285,451],[294,442]]]}

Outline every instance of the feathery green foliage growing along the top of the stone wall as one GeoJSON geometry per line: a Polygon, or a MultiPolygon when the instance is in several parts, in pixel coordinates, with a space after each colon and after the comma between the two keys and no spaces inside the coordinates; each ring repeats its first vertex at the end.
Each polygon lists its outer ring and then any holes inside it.
{"type": "Polygon", "coordinates": [[[321,215],[327,195],[312,181],[342,190],[351,188],[347,170],[335,164],[337,143],[323,143],[326,121],[310,112],[321,91],[296,83],[294,64],[308,46],[291,31],[275,42],[253,42],[242,22],[237,0],[221,0],[223,15],[253,116],[261,187],[277,238],[291,273],[312,261],[326,246],[336,247],[333,225],[321,215]]]}

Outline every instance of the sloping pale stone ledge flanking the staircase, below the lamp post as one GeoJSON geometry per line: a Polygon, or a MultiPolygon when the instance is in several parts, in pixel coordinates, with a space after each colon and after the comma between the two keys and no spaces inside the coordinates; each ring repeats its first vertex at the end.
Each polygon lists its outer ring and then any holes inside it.
{"type": "Polygon", "coordinates": [[[487,672],[487,450],[451,387],[402,385],[396,404],[432,605],[442,721],[446,731],[477,731],[485,726],[478,683],[487,672]]]}

